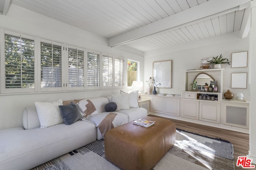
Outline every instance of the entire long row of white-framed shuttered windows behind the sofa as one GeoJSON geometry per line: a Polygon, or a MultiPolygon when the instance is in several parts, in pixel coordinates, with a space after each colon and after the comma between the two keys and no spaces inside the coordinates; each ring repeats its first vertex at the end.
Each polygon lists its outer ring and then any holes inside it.
{"type": "Polygon", "coordinates": [[[2,94],[124,86],[122,57],[5,29],[0,32],[2,94]]]}

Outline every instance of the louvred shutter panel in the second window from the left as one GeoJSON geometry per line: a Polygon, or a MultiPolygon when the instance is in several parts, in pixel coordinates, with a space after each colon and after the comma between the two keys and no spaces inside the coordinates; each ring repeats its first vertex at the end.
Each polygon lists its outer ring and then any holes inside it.
{"type": "Polygon", "coordinates": [[[62,46],[41,42],[41,88],[62,87],[62,46]]]}

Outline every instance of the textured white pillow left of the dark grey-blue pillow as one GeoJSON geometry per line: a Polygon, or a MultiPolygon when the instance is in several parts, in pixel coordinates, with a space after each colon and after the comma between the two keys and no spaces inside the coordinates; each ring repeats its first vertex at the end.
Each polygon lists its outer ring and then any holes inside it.
{"type": "Polygon", "coordinates": [[[60,115],[60,105],[63,105],[61,99],[55,102],[35,102],[40,129],[63,123],[60,115]]]}

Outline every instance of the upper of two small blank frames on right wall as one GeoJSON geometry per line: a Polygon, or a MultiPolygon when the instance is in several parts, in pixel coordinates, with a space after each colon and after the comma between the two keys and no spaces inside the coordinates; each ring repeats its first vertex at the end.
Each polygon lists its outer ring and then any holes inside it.
{"type": "Polygon", "coordinates": [[[248,51],[232,53],[231,68],[247,67],[248,51]]]}

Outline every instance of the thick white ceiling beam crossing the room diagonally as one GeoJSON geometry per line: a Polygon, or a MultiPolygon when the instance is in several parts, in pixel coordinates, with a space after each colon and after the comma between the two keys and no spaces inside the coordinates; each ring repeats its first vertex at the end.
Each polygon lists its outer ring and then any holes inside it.
{"type": "Polygon", "coordinates": [[[108,40],[110,47],[124,45],[126,43],[184,25],[214,14],[236,8],[241,4],[246,4],[250,0],[209,0],[182,12],[178,12],[158,21],[154,21],[132,31],[128,31],[108,40]]]}

